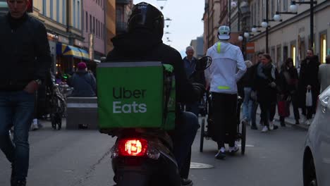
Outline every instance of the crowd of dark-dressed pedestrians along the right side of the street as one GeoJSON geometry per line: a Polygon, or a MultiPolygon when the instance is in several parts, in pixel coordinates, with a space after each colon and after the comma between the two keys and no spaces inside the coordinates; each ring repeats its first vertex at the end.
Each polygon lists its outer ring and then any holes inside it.
{"type": "Polygon", "coordinates": [[[310,125],[316,112],[317,97],[330,85],[330,56],[320,66],[318,56],[312,49],[296,68],[292,58],[287,58],[281,68],[276,68],[269,54],[257,54],[256,63],[251,66],[245,61],[247,73],[238,83],[244,97],[243,121],[257,130],[255,116],[259,106],[262,132],[277,129],[274,116],[278,111],[280,123],[285,127],[285,118],[290,116],[291,104],[295,124],[310,125]],[[277,106],[277,109],[276,109],[277,106]],[[301,112],[300,112],[301,111],[301,112]]]}

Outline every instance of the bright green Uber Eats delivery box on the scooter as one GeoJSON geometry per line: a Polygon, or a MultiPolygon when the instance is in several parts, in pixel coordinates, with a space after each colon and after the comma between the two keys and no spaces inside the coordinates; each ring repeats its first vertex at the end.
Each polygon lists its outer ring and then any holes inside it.
{"type": "Polygon", "coordinates": [[[167,93],[171,101],[164,96],[168,79],[164,76],[168,74],[164,69],[161,62],[100,63],[97,67],[100,131],[114,128],[173,129],[175,96],[174,90],[172,94],[167,93]],[[166,101],[169,104],[165,107],[166,101]],[[164,114],[164,109],[171,113],[164,114]]]}

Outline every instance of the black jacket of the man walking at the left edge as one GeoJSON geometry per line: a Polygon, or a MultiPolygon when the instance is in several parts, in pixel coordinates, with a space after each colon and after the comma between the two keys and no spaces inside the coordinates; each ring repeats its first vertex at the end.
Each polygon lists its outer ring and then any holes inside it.
{"type": "Polygon", "coordinates": [[[25,13],[0,16],[0,90],[22,90],[31,80],[44,80],[51,57],[44,25],[25,13]]]}

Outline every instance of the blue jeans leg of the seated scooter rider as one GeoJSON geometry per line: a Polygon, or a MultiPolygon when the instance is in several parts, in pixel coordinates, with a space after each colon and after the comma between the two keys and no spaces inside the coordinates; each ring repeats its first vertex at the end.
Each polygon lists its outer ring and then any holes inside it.
{"type": "Polygon", "coordinates": [[[181,118],[178,118],[178,122],[173,136],[173,154],[176,157],[178,168],[181,170],[190,155],[191,145],[195,140],[195,135],[200,125],[195,114],[190,112],[181,113],[181,118]]]}

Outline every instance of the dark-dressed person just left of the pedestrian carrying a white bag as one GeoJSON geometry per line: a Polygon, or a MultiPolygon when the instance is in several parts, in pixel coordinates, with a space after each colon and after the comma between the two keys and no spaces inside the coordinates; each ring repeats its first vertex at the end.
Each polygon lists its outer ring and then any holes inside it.
{"type": "MultiPolygon", "coordinates": [[[[286,62],[283,64],[280,73],[280,97],[279,101],[283,101],[283,115],[280,116],[281,126],[285,126],[285,118],[289,113],[290,103],[293,106],[293,114],[295,116],[295,124],[299,124],[299,109],[298,109],[298,70],[293,66],[293,59],[287,58],[286,62]],[[288,108],[287,108],[288,107],[288,108]]],[[[280,107],[280,106],[279,106],[280,107]]],[[[280,108],[279,108],[280,115],[280,108]]]]}

